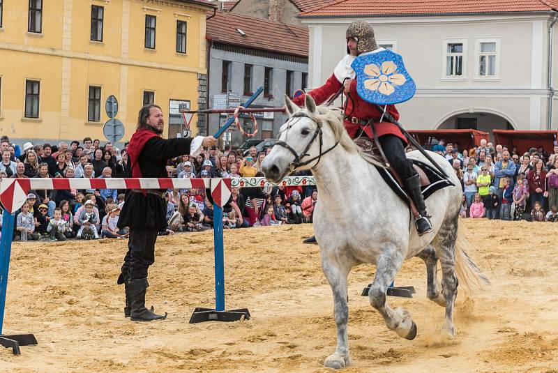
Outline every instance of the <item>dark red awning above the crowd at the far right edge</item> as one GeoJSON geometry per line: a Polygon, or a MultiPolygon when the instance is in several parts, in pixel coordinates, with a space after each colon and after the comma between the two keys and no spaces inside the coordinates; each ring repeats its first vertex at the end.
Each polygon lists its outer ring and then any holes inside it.
{"type": "Polygon", "coordinates": [[[519,153],[529,151],[529,148],[543,149],[549,154],[554,153],[554,145],[557,141],[558,130],[552,131],[520,131],[520,130],[494,130],[495,144],[502,144],[512,149],[518,147],[519,153]]]}

